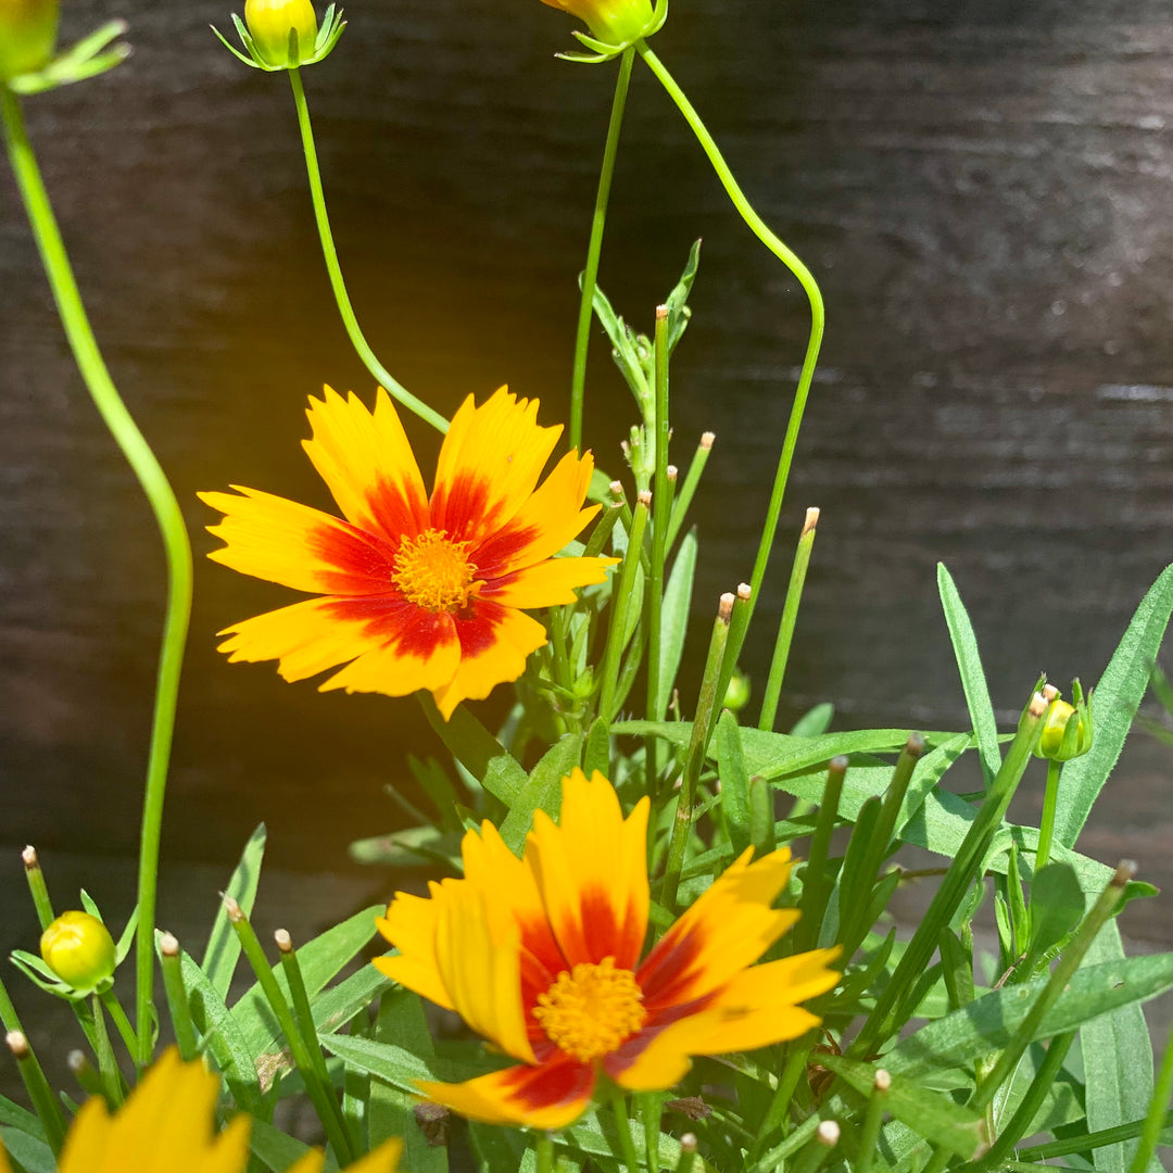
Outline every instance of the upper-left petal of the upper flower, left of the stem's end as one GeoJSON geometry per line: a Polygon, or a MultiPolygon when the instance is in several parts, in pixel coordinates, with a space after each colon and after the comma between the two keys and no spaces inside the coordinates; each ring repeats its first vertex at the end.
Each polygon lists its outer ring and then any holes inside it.
{"type": "Polygon", "coordinates": [[[427,529],[423,479],[387,392],[379,388],[372,413],[326,387],[306,415],[313,439],[303,447],[350,521],[391,538],[427,529]]]}

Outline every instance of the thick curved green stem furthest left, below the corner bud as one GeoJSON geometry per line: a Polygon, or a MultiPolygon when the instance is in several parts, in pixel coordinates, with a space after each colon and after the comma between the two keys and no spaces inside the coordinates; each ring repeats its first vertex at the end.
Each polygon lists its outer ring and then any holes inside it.
{"type": "Polygon", "coordinates": [[[126,405],[118,398],[106,362],[97,348],[89,319],[77,291],[69,257],[61,240],[48,192],[41,179],[36,157],[25,130],[25,120],[16,96],[0,86],[0,109],[4,115],[5,145],[12,161],[28,222],[41,253],[41,262],[53,289],[57,312],[74,360],[81,371],[95,406],[111,435],[127,457],[142,486],[151,513],[163,537],[167,554],[167,613],[163,622],[163,646],[160,653],[155,687],[155,713],[151,723],[150,755],[147,764],[147,789],[143,796],[142,834],[138,854],[138,929],[135,941],[137,974],[136,1026],[140,1065],[150,1062],[154,1011],[151,994],[155,979],[154,933],[155,891],[158,882],[158,841],[163,826],[163,799],[167,792],[167,767],[175,731],[175,708],[179,691],[183,645],[191,615],[191,544],[183,524],[183,514],[150,446],[143,439],[126,405]]]}

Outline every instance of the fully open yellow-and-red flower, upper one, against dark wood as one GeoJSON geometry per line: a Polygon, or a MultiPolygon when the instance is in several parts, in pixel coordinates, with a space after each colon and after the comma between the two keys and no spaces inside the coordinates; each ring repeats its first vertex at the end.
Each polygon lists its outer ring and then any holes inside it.
{"type": "Polygon", "coordinates": [[[537,484],[561,427],[537,400],[501,388],[461,405],[440,448],[430,500],[391,398],[374,412],[328,387],[310,400],[303,441],[345,521],[237,488],[202,493],[224,513],[210,557],[318,592],[221,635],[232,660],[278,659],[286,680],[346,666],[321,689],[402,697],[428,689],[445,719],[466,697],[516,680],[545,630],[522,609],[572,603],[613,558],[554,555],[598,510],[582,508],[594,462],[568,453],[537,484]]]}

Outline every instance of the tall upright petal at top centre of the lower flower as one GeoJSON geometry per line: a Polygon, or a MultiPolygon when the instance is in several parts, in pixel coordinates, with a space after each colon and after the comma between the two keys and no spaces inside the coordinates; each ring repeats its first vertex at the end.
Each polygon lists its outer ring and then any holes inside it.
{"type": "Polygon", "coordinates": [[[534,816],[526,861],[569,965],[613,957],[633,969],[647,930],[646,796],[624,819],[615,787],[576,768],[562,784],[558,825],[534,816]]]}

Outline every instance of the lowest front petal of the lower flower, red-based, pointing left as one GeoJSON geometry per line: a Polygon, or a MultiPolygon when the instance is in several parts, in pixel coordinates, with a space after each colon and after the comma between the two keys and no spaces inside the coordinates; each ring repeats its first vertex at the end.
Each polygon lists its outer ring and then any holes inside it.
{"type": "Polygon", "coordinates": [[[560,1056],[541,1066],[509,1067],[462,1084],[420,1083],[419,1089],[470,1120],[564,1128],[590,1104],[595,1071],[560,1056]]]}

